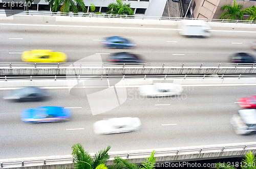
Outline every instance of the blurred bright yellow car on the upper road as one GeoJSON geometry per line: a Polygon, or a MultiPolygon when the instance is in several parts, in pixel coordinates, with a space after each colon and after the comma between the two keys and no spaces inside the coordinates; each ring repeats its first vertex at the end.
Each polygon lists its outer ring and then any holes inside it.
{"type": "Polygon", "coordinates": [[[67,55],[63,52],[52,50],[31,50],[22,54],[23,62],[60,63],[67,61],[67,55]]]}

